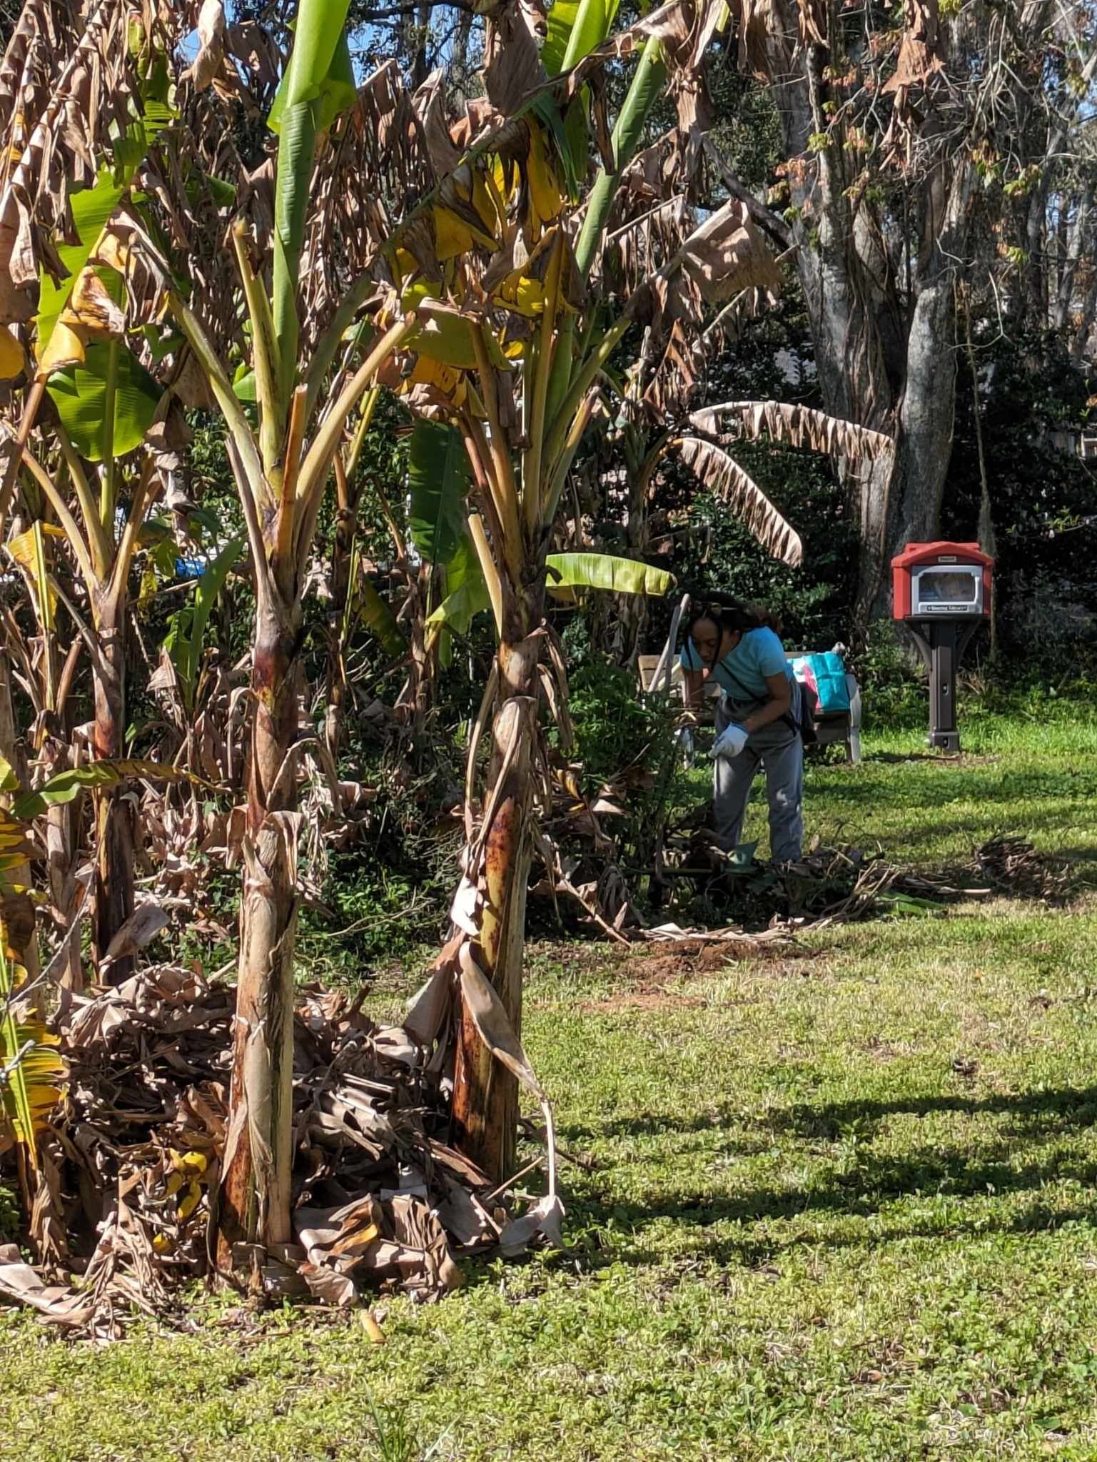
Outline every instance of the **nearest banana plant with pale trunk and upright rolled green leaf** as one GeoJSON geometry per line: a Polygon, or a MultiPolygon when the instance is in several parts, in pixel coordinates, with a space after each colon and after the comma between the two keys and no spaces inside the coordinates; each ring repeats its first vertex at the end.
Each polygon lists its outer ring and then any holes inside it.
{"type": "MultiPolygon", "coordinates": [[[[290,1240],[294,937],[297,928],[297,741],[301,716],[301,596],[328,478],[347,421],[379,367],[408,336],[414,311],[366,344],[354,322],[373,281],[350,287],[328,329],[300,360],[301,260],[317,152],[358,96],[345,35],[348,0],[301,0],[293,51],[269,117],[278,135],[275,228],[269,260],[246,222],[233,249],[250,325],[253,430],[208,322],[167,269],[164,295],[224,417],[227,447],[247,525],[256,586],[253,719],[240,905],[240,972],[230,1088],[228,1143],[216,1200],[218,1259],[235,1246],[290,1240]],[[342,361],[332,368],[344,346],[342,361]],[[326,392],[323,387],[328,387],[326,392]]],[[[224,16],[221,16],[224,26],[224,16]]],[[[215,44],[216,35],[211,44],[215,44]]],[[[344,180],[342,186],[350,186],[344,180]]]]}

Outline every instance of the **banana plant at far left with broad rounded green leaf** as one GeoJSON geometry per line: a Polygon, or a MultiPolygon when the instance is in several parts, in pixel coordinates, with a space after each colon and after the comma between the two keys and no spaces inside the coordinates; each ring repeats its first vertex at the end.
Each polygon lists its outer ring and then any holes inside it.
{"type": "MultiPolygon", "coordinates": [[[[161,490],[157,449],[146,444],[146,436],[168,414],[168,396],[129,348],[123,284],[111,269],[111,219],[130,196],[149,148],[176,115],[164,51],[139,25],[127,34],[130,50],[142,56],[133,105],[126,104],[129,114],[111,129],[110,156],[70,193],[70,228],[50,268],[39,266],[35,361],[4,477],[4,490],[22,480],[23,497],[39,515],[26,548],[44,640],[53,633],[61,594],[47,567],[56,538],[67,545],[86,591],[88,623],[66,602],[91,654],[94,754],[104,759],[123,750],[129,573],[145,515],[161,490]],[[42,446],[35,446],[31,430],[47,393],[56,420],[39,433],[42,446]]],[[[124,63],[116,63],[114,72],[120,70],[124,63]]],[[[44,709],[56,711],[48,643],[44,699],[44,709]]],[[[92,946],[101,956],[133,912],[132,806],[114,791],[98,791],[95,826],[92,946]]],[[[129,972],[123,959],[111,968],[111,978],[120,981],[129,972]]]]}

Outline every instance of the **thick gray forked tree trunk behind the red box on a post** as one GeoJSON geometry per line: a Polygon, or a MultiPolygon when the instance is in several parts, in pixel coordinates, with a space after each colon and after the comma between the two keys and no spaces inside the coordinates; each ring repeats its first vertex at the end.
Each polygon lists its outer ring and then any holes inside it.
{"type": "Polygon", "coordinates": [[[845,472],[850,512],[862,538],[859,629],[888,613],[891,556],[904,542],[932,538],[952,447],[955,406],[955,300],[958,259],[967,243],[974,167],[958,146],[913,190],[917,265],[907,266],[908,298],[883,247],[883,231],[857,184],[862,167],[838,130],[812,152],[812,133],[828,133],[829,53],[793,53],[796,16],[777,0],[765,38],[790,171],[797,270],[815,342],[826,411],[876,431],[895,433],[894,458],[863,474],[845,472]]]}

